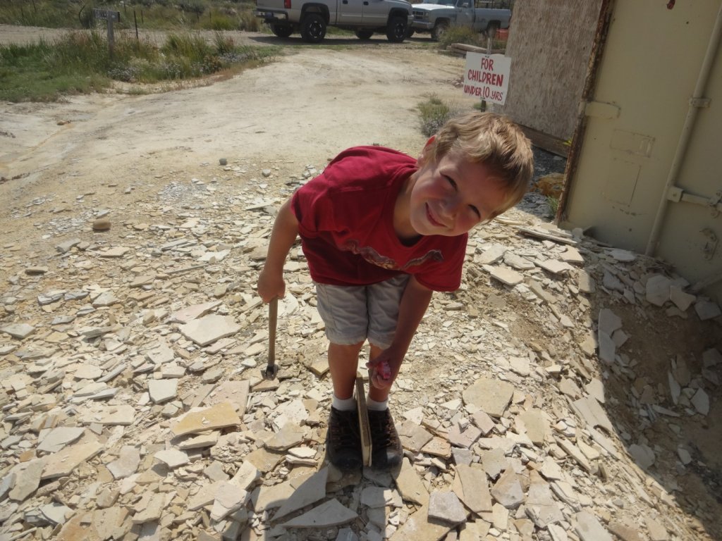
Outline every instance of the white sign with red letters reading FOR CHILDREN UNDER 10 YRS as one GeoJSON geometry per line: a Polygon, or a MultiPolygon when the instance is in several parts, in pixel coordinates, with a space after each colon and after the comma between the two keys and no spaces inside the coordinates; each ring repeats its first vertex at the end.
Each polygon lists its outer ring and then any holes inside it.
{"type": "Polygon", "coordinates": [[[466,53],[464,94],[504,105],[510,72],[511,58],[507,56],[466,53]]]}

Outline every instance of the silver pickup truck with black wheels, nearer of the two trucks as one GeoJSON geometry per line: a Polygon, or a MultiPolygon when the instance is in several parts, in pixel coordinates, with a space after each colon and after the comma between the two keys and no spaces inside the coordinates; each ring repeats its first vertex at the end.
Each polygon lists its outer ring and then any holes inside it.
{"type": "Polygon", "coordinates": [[[308,43],[319,43],[326,27],[334,26],[353,30],[361,40],[385,32],[389,41],[401,43],[409,35],[411,9],[406,0],[256,0],[254,13],[279,38],[300,32],[308,43]]]}

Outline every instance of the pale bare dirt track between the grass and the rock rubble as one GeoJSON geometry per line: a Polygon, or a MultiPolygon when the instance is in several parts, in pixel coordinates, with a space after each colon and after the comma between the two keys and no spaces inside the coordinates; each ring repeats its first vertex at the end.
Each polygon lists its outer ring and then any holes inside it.
{"type": "Polygon", "coordinates": [[[3,104],[0,175],[18,178],[1,188],[9,195],[4,201],[22,205],[68,178],[77,194],[222,157],[297,170],[357,144],[415,153],[424,143],[418,102],[431,94],[473,102],[458,87],[462,58],[380,38],[351,43],[342,50],[290,50],[259,69],[177,92],[3,104]]]}

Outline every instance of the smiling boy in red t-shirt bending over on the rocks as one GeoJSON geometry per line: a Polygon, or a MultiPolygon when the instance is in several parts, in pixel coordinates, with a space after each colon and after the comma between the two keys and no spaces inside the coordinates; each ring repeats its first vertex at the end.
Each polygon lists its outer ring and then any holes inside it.
{"type": "Polygon", "coordinates": [[[380,146],[343,151],[284,203],[258,294],[264,302],[284,295],[284,261],[300,235],[329,338],[332,464],[362,465],[353,391],[365,340],[371,464],[401,462],[388,393],[432,291],[458,289],[467,232],[518,203],[532,170],[518,126],[472,112],[445,123],[419,159],[380,146]]]}

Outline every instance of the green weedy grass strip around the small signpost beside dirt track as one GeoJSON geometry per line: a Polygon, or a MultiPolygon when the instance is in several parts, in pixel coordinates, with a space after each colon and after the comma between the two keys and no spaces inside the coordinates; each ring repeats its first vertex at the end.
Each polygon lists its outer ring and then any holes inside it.
{"type": "Polygon", "coordinates": [[[238,73],[277,55],[276,47],[248,47],[217,32],[212,43],[191,32],[170,33],[160,47],[116,35],[113,56],[103,32],[69,32],[52,45],[0,45],[0,100],[54,101],[100,92],[114,81],[152,84],[238,73]]]}

